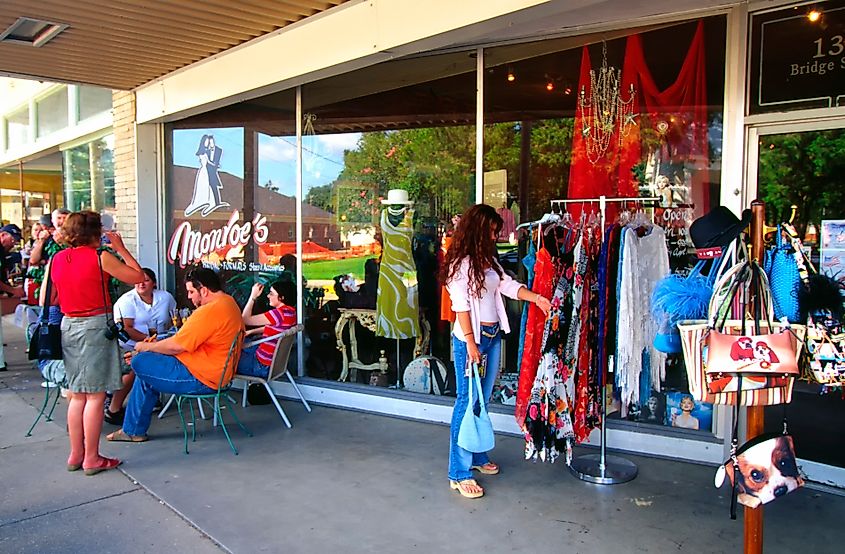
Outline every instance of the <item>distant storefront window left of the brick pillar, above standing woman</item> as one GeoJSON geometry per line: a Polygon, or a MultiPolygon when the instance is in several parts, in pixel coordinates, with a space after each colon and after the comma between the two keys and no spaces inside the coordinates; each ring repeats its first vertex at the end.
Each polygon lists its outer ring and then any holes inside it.
{"type": "Polygon", "coordinates": [[[70,148],[62,154],[66,207],[72,211],[113,210],[114,135],[70,148]]]}

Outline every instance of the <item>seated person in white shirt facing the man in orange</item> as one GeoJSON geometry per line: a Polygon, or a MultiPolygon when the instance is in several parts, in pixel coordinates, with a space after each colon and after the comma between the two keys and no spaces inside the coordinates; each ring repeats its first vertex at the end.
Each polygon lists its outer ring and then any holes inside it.
{"type": "MultiPolygon", "coordinates": [[[[141,271],[144,272],[144,280],[114,303],[114,320],[123,322],[123,328],[131,339],[120,341],[120,347],[124,351],[134,350],[137,341],[166,333],[173,326],[170,314],[176,310],[176,299],[166,290],[156,288],[158,281],[152,269],[144,267],[141,271]]],[[[106,407],[105,420],[112,425],[123,424],[123,401],[135,382],[135,374],[125,360],[121,368],[123,388],[114,391],[111,402],[106,407]]]]}

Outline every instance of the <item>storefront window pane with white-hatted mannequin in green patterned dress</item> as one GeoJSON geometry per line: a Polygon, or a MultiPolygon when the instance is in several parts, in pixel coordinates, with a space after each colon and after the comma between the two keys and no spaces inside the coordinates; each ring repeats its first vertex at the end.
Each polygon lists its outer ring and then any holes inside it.
{"type": "Polygon", "coordinates": [[[402,84],[418,85],[394,84],[396,65],[383,64],[356,77],[357,95],[332,80],[303,87],[303,275],[323,295],[306,312],[311,377],[454,390],[437,273],[452,218],[475,196],[475,62],[428,61],[428,72],[405,66],[402,84]],[[445,362],[432,373],[430,353],[445,362]]]}

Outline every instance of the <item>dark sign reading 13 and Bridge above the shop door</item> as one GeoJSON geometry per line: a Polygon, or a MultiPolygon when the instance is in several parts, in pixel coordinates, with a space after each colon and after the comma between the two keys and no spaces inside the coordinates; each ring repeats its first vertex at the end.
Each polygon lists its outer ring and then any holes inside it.
{"type": "Polygon", "coordinates": [[[845,106],[845,6],[813,7],[752,17],[751,114],[845,106]]]}

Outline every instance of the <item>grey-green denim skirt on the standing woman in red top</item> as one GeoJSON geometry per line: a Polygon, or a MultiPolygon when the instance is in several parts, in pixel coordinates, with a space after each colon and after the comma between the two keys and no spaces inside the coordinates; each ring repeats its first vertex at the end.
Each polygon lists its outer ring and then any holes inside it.
{"type": "Polygon", "coordinates": [[[115,391],[122,386],[117,340],[105,336],[106,317],[62,319],[62,355],[71,392],[115,391]]]}

